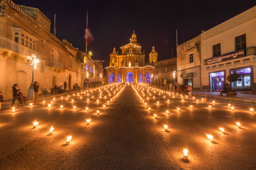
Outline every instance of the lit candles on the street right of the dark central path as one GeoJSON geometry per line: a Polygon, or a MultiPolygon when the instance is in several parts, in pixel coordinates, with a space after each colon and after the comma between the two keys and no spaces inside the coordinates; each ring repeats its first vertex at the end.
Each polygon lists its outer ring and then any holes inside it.
{"type": "MultiPolygon", "coordinates": [[[[137,95],[138,95],[138,97],[140,98],[140,100],[142,101],[142,102],[144,102],[144,100],[143,100],[143,98],[139,95],[139,90],[141,90],[141,88],[143,88],[140,92],[143,94],[143,97],[145,98],[145,94],[144,94],[144,90],[145,90],[145,85],[136,85],[136,87],[137,87],[137,89],[133,86],[133,88],[134,88],[134,90],[136,91],[136,93],[137,93],[137,95]]],[[[149,95],[151,95],[151,93],[150,93],[150,91],[149,90],[154,90],[154,93],[156,93],[156,90],[157,91],[160,91],[160,92],[162,92],[162,93],[167,93],[167,94],[169,94],[169,95],[171,95],[171,93],[170,92],[164,92],[164,91],[161,91],[161,90],[159,90],[159,89],[156,89],[156,88],[153,88],[153,87],[146,87],[147,89],[147,93],[149,93],[149,95]]],[[[159,95],[160,95],[161,93],[159,93],[159,95]]],[[[176,94],[176,95],[178,95],[178,94],[176,94]]],[[[173,96],[174,97],[174,96],[173,96]]],[[[187,97],[187,96],[186,96],[187,97]]],[[[153,96],[153,98],[155,98],[155,96],[153,96]]],[[[164,96],[164,98],[165,98],[165,96],[164,96]]],[[[181,98],[183,98],[183,96],[181,95],[181,98]]],[[[149,97],[147,97],[146,99],[149,99],[149,97]]],[[[193,99],[195,99],[195,97],[193,97],[193,99]]],[[[184,102],[184,99],[182,99],[181,100],[182,102],[184,102]]],[[[202,99],[202,101],[203,101],[203,99],[202,99]]],[[[167,102],[169,103],[170,101],[169,100],[167,100],[167,102]]],[[[197,102],[199,102],[198,100],[197,100],[197,102]]],[[[216,102],[215,101],[213,101],[212,102],[213,104],[215,104],[216,102]]],[[[146,102],[144,102],[144,104],[145,104],[145,106],[147,106],[147,103],[146,102]]],[[[160,104],[159,102],[157,102],[157,104],[160,104]]],[[[228,106],[234,111],[234,106],[231,106],[231,104],[228,104],[228,106]]],[[[193,108],[193,106],[192,105],[190,105],[189,106],[191,109],[193,108]]],[[[209,108],[211,109],[212,108],[212,106],[211,105],[209,105],[209,108]]],[[[149,111],[151,111],[151,108],[150,107],[148,107],[148,110],[149,111]]],[[[179,107],[177,107],[177,110],[178,111],[180,111],[180,108],[179,107]]],[[[249,109],[252,113],[254,112],[254,109],[253,108],[250,108],[249,109]]],[[[170,113],[169,113],[169,111],[168,110],[166,110],[166,113],[169,115],[170,113]]],[[[157,114],[154,114],[154,118],[155,119],[157,119],[157,114]]],[[[236,125],[237,125],[237,127],[238,128],[241,128],[241,124],[240,124],[240,122],[236,122],[236,125]]],[[[164,129],[165,129],[165,132],[168,132],[168,125],[163,125],[164,126],[164,129]]],[[[224,131],[224,128],[219,128],[219,130],[222,132],[222,134],[226,134],[226,132],[224,131]]],[[[209,134],[206,134],[206,136],[210,139],[210,142],[211,143],[214,143],[214,138],[213,138],[213,136],[212,135],[209,135],[209,134]]],[[[188,159],[188,149],[183,149],[183,159],[188,159]]]]}

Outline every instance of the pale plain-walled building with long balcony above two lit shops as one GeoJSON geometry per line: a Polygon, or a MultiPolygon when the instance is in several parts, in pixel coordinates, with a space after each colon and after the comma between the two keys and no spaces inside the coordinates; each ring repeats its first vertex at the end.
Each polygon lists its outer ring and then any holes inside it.
{"type": "Polygon", "coordinates": [[[202,88],[220,91],[230,74],[241,82],[232,87],[256,94],[256,6],[201,34],[202,88]]]}

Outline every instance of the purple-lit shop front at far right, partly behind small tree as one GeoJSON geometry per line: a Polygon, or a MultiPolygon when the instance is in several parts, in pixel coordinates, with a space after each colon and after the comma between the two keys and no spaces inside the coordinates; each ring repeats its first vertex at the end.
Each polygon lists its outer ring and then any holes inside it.
{"type": "Polygon", "coordinates": [[[242,68],[242,69],[232,69],[231,74],[240,74],[242,80],[237,81],[232,83],[232,88],[234,88],[237,91],[252,91],[252,86],[251,86],[251,73],[252,73],[252,68],[242,68]]]}

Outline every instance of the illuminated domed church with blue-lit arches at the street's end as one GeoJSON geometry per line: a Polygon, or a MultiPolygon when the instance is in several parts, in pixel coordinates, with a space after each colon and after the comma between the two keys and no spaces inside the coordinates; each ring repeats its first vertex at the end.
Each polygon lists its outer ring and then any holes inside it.
{"type": "Polygon", "coordinates": [[[149,53],[149,62],[145,62],[145,51],[137,41],[137,35],[132,34],[130,43],[121,47],[118,54],[116,48],[109,55],[110,65],[106,69],[108,83],[152,83],[155,73],[154,63],[158,61],[158,53],[153,46],[149,53]]]}

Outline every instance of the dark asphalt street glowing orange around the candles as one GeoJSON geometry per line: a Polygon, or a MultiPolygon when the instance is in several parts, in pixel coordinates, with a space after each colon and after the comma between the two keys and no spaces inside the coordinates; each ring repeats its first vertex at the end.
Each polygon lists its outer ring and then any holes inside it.
{"type": "Polygon", "coordinates": [[[249,110],[256,110],[255,104],[181,98],[139,84],[107,85],[100,90],[19,106],[14,113],[11,108],[1,111],[0,169],[256,169],[256,111],[249,110]],[[33,128],[35,119],[39,124],[33,128]],[[91,119],[89,125],[86,119],[91,119]],[[168,125],[167,132],[163,125],[168,125]],[[49,135],[51,126],[53,135],[49,135]],[[213,143],[207,134],[213,136],[213,143]]]}

